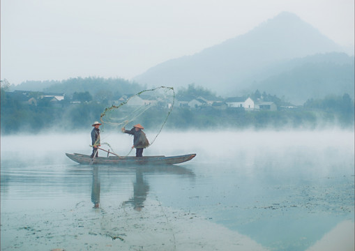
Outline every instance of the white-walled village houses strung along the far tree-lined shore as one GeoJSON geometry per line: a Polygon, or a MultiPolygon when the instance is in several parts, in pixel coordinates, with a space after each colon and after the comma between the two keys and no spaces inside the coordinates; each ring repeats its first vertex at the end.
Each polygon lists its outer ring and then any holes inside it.
{"type": "MultiPolygon", "coordinates": [[[[13,91],[6,95],[15,98],[27,105],[38,105],[38,102],[46,101],[52,106],[62,106],[65,98],[64,93],[36,93],[33,95],[31,91],[13,91]]],[[[111,105],[119,105],[129,99],[128,105],[160,105],[163,107],[171,107],[172,103],[165,100],[156,100],[156,98],[148,95],[134,96],[133,94],[122,95],[120,97],[109,100],[111,105]]],[[[80,103],[79,101],[70,101],[71,104],[80,103]]],[[[246,111],[269,110],[276,111],[278,107],[274,102],[264,102],[261,99],[252,100],[252,98],[218,98],[216,96],[176,96],[174,107],[198,109],[203,107],[213,107],[215,109],[239,108],[246,111]]]]}

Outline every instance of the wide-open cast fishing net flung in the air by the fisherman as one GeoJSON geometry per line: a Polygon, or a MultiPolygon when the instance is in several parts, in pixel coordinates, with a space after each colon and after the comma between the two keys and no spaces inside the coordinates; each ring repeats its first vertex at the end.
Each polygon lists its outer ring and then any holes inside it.
{"type": "MultiPolygon", "coordinates": [[[[103,124],[101,132],[120,133],[124,137],[121,128],[131,130],[139,123],[144,127],[146,138],[149,141],[148,146],[151,146],[163,130],[174,107],[174,101],[174,89],[167,86],[122,96],[118,104],[107,107],[101,114],[100,121],[103,124]]],[[[103,135],[101,135],[101,139],[103,139],[103,135]]],[[[109,146],[114,152],[109,144],[109,137],[105,137],[105,140],[107,142],[101,140],[101,144],[109,146]]]]}

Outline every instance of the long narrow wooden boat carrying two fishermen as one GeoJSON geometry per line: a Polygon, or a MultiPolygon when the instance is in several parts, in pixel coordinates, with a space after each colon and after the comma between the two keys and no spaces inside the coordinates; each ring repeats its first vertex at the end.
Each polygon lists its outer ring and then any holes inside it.
{"type": "Polygon", "coordinates": [[[174,165],[182,162],[186,162],[195,158],[196,154],[186,154],[178,156],[165,157],[164,155],[158,156],[143,156],[143,157],[119,157],[119,156],[109,156],[109,157],[96,157],[90,158],[90,155],[80,154],[80,153],[66,153],[70,160],[74,160],[80,164],[86,165],[174,165]],[[92,161],[92,162],[91,162],[92,161]]]}

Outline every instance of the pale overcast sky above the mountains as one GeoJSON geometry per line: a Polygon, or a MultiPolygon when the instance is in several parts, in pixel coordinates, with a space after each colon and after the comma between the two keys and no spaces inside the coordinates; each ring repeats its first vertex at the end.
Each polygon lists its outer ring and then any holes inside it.
{"type": "Polygon", "coordinates": [[[132,79],[282,11],[354,47],[354,0],[1,0],[1,80],[132,79]]]}

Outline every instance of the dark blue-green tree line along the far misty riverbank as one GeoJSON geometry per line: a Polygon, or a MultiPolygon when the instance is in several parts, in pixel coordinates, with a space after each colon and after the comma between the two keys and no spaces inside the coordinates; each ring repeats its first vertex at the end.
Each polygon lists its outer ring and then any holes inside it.
{"type": "MultiPolygon", "coordinates": [[[[48,102],[38,101],[37,105],[25,105],[19,100],[8,96],[6,86],[1,86],[1,134],[17,132],[37,133],[42,130],[56,128],[56,130],[73,131],[88,130],[93,121],[100,119],[100,114],[107,107],[105,98],[98,102],[89,91],[74,91],[71,101],[80,101],[69,105],[69,100],[62,100],[60,107],[48,102]]],[[[215,94],[200,86],[190,84],[187,89],[181,89],[177,95],[214,96],[215,94]]],[[[251,93],[252,98],[263,98],[280,105],[289,105],[282,99],[260,93],[251,93]]],[[[107,97],[106,97],[107,98],[107,97]]],[[[142,116],[142,124],[148,128],[158,126],[155,119],[161,114],[161,107],[152,107],[146,116],[142,116]]],[[[167,120],[167,126],[182,130],[188,128],[309,128],[319,126],[354,127],[354,100],[349,94],[343,96],[326,96],[321,99],[310,99],[296,109],[278,109],[278,111],[248,112],[243,108],[218,109],[211,106],[175,107],[167,120]]]]}

